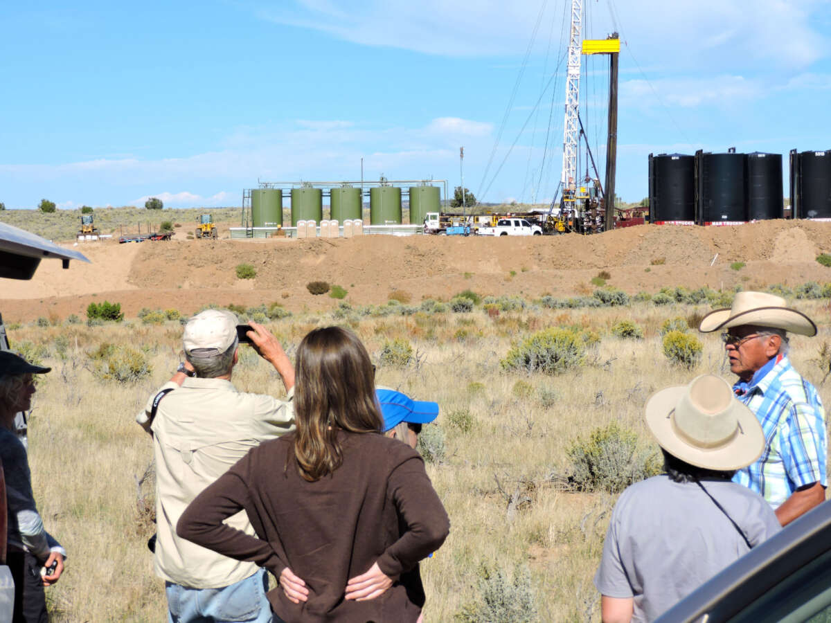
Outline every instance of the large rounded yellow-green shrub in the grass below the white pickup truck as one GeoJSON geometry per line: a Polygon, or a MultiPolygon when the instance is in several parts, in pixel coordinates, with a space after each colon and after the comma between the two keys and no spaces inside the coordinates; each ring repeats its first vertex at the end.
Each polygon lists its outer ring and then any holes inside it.
{"type": "Polygon", "coordinates": [[[583,365],[586,345],[576,331],[552,327],[514,345],[501,361],[503,370],[553,375],[583,365]]]}

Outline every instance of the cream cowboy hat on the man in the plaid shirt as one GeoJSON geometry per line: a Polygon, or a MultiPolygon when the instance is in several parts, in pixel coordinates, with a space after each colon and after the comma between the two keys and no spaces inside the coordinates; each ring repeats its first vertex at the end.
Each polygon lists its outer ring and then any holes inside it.
{"type": "Polygon", "coordinates": [[[808,316],[785,307],[784,298],[767,292],[739,292],[730,309],[717,309],[701,319],[698,330],[710,333],[731,326],[757,325],[784,329],[801,336],[817,335],[817,326],[808,316]]]}

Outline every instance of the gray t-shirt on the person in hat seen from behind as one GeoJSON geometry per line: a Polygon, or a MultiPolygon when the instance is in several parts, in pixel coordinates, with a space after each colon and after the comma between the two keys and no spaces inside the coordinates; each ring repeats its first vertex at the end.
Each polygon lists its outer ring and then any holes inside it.
{"type": "MultiPolygon", "coordinates": [[[[752,546],[782,529],[758,493],[727,480],[701,484],[752,546]]],[[[594,586],[605,596],[634,597],[632,621],[652,621],[748,551],[696,483],[654,476],[617,500],[594,586]]]]}

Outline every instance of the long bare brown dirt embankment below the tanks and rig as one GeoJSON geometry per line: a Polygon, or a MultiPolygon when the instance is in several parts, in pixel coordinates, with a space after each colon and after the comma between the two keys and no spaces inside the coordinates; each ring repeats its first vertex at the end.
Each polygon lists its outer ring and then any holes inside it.
{"type": "Polygon", "coordinates": [[[194,312],[209,302],[253,306],[280,301],[291,310],[332,307],[313,297],[310,281],[345,287],[347,301],[381,303],[395,290],[452,297],[470,288],[482,294],[590,292],[603,270],[627,292],[663,286],[713,288],[794,286],[829,282],[831,269],[815,261],[831,252],[831,223],[767,221],[738,227],[645,225],[595,236],[445,238],[365,236],[352,239],[85,243],[90,264],[42,262],[30,282],[4,280],[0,311],[8,321],[82,315],[91,301],[120,302],[128,316],[141,307],[194,312]],[[257,277],[240,280],[250,263],[257,277]],[[740,270],[732,262],[746,262],[740,270]]]}

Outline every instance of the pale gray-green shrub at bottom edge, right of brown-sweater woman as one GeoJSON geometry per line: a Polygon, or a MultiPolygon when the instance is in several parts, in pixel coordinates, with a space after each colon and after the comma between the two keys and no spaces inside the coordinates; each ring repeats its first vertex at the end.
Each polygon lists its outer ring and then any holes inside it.
{"type": "Polygon", "coordinates": [[[539,620],[537,596],[528,567],[514,569],[509,580],[501,569],[479,568],[479,596],[453,616],[455,623],[532,623],[539,620]]]}

